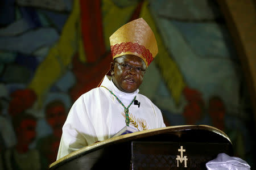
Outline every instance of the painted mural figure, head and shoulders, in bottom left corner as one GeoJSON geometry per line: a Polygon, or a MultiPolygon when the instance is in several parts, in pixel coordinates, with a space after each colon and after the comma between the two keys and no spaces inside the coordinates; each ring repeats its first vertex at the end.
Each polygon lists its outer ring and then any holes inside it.
{"type": "Polygon", "coordinates": [[[30,149],[30,144],[36,137],[36,120],[30,114],[20,113],[13,117],[13,126],[17,144],[8,148],[3,154],[5,169],[40,169],[39,152],[30,149]]]}

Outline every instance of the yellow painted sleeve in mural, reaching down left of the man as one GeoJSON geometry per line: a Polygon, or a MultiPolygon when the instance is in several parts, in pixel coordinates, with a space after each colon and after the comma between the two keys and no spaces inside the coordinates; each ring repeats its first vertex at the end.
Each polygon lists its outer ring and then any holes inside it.
{"type": "Polygon", "coordinates": [[[28,86],[38,96],[39,105],[42,101],[42,95],[65,73],[77,51],[80,54],[80,61],[85,62],[80,30],[80,3],[79,0],[73,2],[73,10],[63,27],[59,41],[49,50],[44,61],[40,63],[28,86]]]}

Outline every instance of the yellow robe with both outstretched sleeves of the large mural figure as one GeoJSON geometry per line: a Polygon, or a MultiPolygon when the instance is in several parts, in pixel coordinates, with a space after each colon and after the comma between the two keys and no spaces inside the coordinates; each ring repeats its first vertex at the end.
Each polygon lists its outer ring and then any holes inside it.
{"type": "MultiPolygon", "coordinates": [[[[176,63],[169,56],[160,39],[160,35],[156,31],[154,20],[151,18],[147,5],[147,1],[143,3],[141,17],[150,25],[158,41],[158,56],[161,57],[156,57],[155,62],[159,65],[163,78],[167,82],[167,86],[176,103],[179,103],[185,83],[176,63]]],[[[104,40],[107,48],[110,48],[109,36],[112,35],[116,29],[129,21],[136,7],[137,5],[132,5],[121,8],[115,6],[110,0],[102,0],[104,40]]],[[[34,78],[28,86],[28,88],[34,90],[38,96],[39,105],[43,94],[47,92],[49,87],[52,86],[63,73],[65,73],[67,66],[71,63],[72,57],[77,51],[79,52],[80,61],[86,62],[80,24],[80,3],[79,0],[74,0],[73,10],[63,27],[59,41],[49,50],[46,59],[40,63],[34,78]]]]}

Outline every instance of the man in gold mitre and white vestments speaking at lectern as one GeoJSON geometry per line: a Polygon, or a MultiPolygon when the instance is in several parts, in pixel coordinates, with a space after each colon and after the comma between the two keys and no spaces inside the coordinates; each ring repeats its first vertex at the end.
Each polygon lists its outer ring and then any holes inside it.
{"type": "Polygon", "coordinates": [[[158,53],[154,33],[142,19],[110,36],[111,76],[73,104],[63,126],[57,159],[97,141],[111,138],[124,126],[138,130],[165,127],[162,113],[138,94],[143,75],[158,53]]]}

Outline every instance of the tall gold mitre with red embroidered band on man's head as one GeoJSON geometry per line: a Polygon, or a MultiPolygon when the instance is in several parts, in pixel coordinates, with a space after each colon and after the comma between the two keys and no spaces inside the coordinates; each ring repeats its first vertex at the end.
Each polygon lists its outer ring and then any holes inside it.
{"type": "Polygon", "coordinates": [[[133,54],[148,67],[158,54],[155,35],[144,19],[135,19],[115,31],[110,37],[112,57],[133,54]]]}

